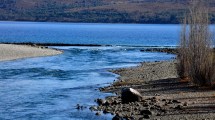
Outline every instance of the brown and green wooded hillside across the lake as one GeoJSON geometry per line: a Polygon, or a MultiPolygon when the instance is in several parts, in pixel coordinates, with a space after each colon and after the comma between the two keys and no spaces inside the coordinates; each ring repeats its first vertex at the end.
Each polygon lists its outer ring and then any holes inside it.
{"type": "MultiPolygon", "coordinates": [[[[1,21],[179,23],[189,0],[0,0],[1,21]]],[[[209,1],[215,21],[215,0],[209,1]]]]}

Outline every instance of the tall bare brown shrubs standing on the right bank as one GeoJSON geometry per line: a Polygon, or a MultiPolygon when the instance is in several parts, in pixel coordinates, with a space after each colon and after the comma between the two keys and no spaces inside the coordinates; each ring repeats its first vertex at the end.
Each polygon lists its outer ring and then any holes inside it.
{"type": "Polygon", "coordinates": [[[189,77],[197,86],[213,86],[215,83],[214,56],[208,25],[207,7],[201,0],[193,0],[182,27],[178,71],[181,77],[189,77]]]}

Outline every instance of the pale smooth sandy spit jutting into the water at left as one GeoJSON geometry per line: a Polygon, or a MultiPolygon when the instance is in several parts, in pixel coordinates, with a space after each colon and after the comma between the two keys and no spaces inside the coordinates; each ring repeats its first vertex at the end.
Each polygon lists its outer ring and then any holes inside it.
{"type": "Polygon", "coordinates": [[[15,60],[29,57],[42,57],[61,54],[61,51],[46,47],[0,44],[0,61],[15,60]]]}

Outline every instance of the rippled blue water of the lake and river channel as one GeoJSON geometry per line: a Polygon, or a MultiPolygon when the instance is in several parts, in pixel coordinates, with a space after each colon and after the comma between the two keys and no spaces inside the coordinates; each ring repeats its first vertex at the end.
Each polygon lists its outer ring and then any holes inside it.
{"type": "Polygon", "coordinates": [[[113,95],[98,90],[117,77],[107,70],[171,59],[174,55],[134,46],[177,45],[178,30],[178,25],[0,22],[0,42],[127,45],[54,47],[64,53],[0,62],[0,119],[109,120],[110,114],[96,116],[88,108],[96,98],[113,95]],[[77,104],[87,108],[77,110],[77,104]]]}

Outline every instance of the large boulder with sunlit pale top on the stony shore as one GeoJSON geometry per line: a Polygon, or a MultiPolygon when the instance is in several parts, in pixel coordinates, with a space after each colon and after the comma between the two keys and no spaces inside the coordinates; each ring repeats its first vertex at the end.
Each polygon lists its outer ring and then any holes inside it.
{"type": "Polygon", "coordinates": [[[133,88],[123,88],[121,99],[122,103],[136,102],[142,100],[142,95],[133,88]]]}

